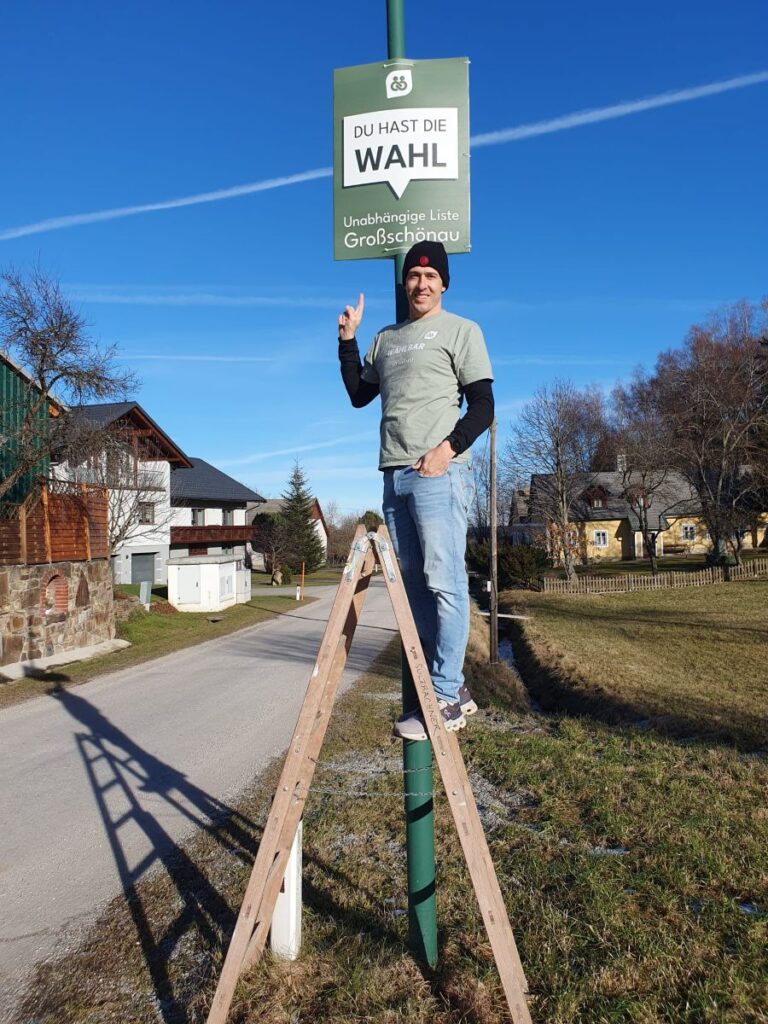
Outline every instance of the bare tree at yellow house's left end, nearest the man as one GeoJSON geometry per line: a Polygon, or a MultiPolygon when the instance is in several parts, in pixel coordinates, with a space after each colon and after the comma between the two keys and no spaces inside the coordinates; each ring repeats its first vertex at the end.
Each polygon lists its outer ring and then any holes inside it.
{"type": "Polygon", "coordinates": [[[602,392],[580,391],[570,381],[556,380],[523,408],[505,449],[512,477],[534,479],[531,514],[547,523],[552,554],[569,580],[575,577],[579,552],[570,509],[590,485],[604,424],[602,392]]]}

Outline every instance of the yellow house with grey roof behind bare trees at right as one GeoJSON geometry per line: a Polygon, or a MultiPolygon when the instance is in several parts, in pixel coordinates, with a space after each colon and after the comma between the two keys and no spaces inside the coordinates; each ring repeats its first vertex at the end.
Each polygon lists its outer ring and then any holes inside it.
{"type": "MultiPolygon", "coordinates": [[[[535,474],[524,521],[517,530],[538,529],[549,535],[547,524],[548,494],[552,477],[535,474]]],[[[569,519],[575,547],[584,562],[642,558],[643,537],[636,509],[627,498],[625,476],[621,472],[584,474],[583,486],[577,486],[569,519]]],[[[660,492],[648,505],[648,525],[658,534],[656,554],[705,554],[711,551],[707,526],[701,519],[698,498],[679,473],[670,473],[660,492]]],[[[768,546],[768,515],[759,516],[754,528],[743,539],[746,550],[768,546]]]]}

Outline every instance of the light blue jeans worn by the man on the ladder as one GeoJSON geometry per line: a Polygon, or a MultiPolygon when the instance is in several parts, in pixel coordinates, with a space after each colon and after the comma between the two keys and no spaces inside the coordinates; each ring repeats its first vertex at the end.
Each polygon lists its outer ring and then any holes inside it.
{"type": "Polygon", "coordinates": [[[455,703],[464,682],[469,590],[464,554],[474,483],[469,463],[442,476],[384,470],[384,521],[438,698],[455,703]]]}

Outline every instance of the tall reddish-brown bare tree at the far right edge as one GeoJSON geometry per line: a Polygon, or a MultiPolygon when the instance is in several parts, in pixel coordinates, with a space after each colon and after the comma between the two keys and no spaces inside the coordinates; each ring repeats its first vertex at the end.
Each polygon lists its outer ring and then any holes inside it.
{"type": "Polygon", "coordinates": [[[768,302],[738,302],[663,353],[650,386],[671,459],[698,497],[713,556],[754,518],[768,483],[768,302]]]}

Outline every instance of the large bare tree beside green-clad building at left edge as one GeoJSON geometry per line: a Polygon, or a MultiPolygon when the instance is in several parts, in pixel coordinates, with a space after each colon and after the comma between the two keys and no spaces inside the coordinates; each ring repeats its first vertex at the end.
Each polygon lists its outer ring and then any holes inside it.
{"type": "Polygon", "coordinates": [[[99,346],[86,323],[65,298],[58,283],[35,266],[28,274],[8,269],[0,276],[0,351],[29,376],[16,408],[0,414],[0,498],[25,476],[39,471],[52,454],[66,457],[80,443],[77,424],[60,413],[69,406],[123,397],[135,385],[116,366],[114,346],[99,346]]]}

